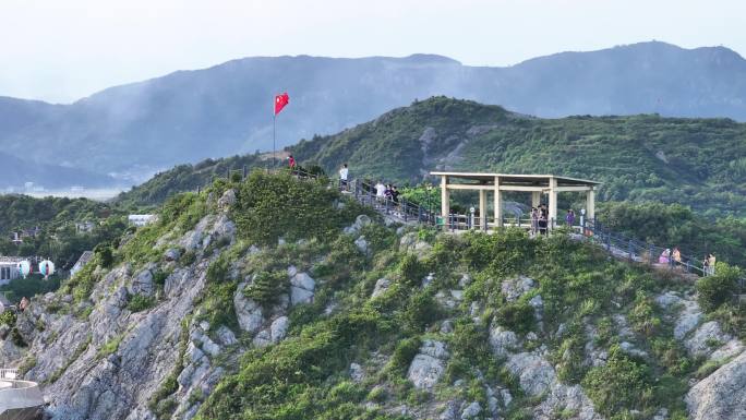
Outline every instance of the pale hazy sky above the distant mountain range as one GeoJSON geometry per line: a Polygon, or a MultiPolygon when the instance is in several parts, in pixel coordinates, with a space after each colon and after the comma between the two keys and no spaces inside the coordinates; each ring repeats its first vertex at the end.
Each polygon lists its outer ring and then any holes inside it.
{"type": "Polygon", "coordinates": [[[746,53],[744,0],[0,0],[0,95],[69,103],[248,56],[509,65],[643,40],[746,53]]]}

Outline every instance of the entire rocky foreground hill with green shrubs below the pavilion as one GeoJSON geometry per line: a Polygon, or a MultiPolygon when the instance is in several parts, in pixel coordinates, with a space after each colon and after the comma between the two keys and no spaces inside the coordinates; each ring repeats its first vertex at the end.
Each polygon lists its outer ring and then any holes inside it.
{"type": "Polygon", "coordinates": [[[739,276],[693,285],[562,231],[401,227],[253,172],[99,249],[7,320],[0,356],[74,419],[736,420],[739,276]]]}

